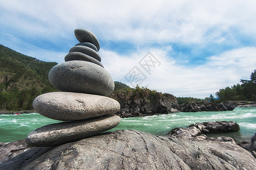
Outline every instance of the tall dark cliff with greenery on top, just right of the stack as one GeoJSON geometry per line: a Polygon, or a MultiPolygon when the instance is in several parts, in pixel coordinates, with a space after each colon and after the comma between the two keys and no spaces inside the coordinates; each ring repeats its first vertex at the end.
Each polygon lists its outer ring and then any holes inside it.
{"type": "Polygon", "coordinates": [[[120,103],[120,110],[116,114],[122,118],[179,112],[176,109],[178,104],[174,95],[162,94],[148,89],[118,90],[109,97],[120,103]]]}

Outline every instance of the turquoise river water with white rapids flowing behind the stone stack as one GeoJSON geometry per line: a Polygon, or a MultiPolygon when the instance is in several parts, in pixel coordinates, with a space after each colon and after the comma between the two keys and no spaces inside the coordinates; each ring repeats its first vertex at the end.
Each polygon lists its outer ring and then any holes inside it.
{"type": "MultiPolygon", "coordinates": [[[[238,141],[249,140],[256,131],[256,108],[235,108],[225,112],[179,112],[146,117],[122,118],[121,123],[110,131],[136,129],[154,135],[166,135],[178,127],[187,127],[196,122],[236,121],[240,131],[226,134],[208,134],[208,137],[229,136],[238,141]]],[[[0,114],[0,142],[11,142],[26,138],[30,131],[41,126],[61,121],[51,120],[39,113],[0,114]]]]}

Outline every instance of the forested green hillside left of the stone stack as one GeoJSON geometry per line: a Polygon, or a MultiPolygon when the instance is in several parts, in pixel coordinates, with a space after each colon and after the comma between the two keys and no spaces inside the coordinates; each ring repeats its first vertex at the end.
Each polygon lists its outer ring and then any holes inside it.
{"type": "Polygon", "coordinates": [[[48,72],[56,64],[24,56],[0,45],[0,109],[32,109],[36,96],[57,91],[48,80],[48,72]]]}

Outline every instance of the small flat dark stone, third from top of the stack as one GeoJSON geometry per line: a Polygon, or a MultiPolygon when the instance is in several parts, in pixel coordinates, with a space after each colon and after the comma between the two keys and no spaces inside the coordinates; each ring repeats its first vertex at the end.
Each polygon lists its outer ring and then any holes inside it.
{"type": "Polygon", "coordinates": [[[84,53],[87,54],[88,56],[91,56],[95,59],[97,59],[98,61],[101,62],[101,56],[100,54],[98,54],[95,50],[89,48],[88,46],[83,46],[83,45],[77,45],[77,46],[73,46],[70,50],[69,53],[71,52],[80,52],[80,53],[84,53]]]}

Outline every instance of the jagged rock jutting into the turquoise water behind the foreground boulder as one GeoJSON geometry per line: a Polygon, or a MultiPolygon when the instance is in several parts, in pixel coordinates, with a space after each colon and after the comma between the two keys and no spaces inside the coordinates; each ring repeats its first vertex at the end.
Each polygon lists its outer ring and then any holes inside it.
{"type": "Polygon", "coordinates": [[[179,137],[196,137],[200,134],[227,133],[240,130],[240,126],[234,121],[203,122],[189,125],[189,128],[175,128],[167,135],[179,137]]]}

